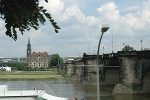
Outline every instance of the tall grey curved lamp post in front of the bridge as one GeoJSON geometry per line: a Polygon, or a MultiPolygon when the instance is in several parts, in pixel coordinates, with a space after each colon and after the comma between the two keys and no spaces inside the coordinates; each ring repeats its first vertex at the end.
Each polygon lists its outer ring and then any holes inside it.
{"type": "Polygon", "coordinates": [[[97,100],[100,100],[100,86],[99,86],[99,49],[100,49],[100,44],[101,44],[101,40],[102,40],[102,37],[103,37],[103,34],[104,32],[106,32],[107,30],[109,29],[109,26],[107,24],[105,25],[102,25],[102,28],[101,28],[101,37],[100,37],[100,40],[99,40],[99,44],[98,44],[98,49],[97,49],[97,100]]]}

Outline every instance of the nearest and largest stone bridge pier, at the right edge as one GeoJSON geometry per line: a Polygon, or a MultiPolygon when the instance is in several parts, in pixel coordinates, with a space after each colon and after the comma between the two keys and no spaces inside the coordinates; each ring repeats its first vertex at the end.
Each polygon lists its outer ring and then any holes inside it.
{"type": "Polygon", "coordinates": [[[143,93],[144,74],[150,69],[150,51],[118,51],[118,59],[119,84],[113,94],[143,93]]]}

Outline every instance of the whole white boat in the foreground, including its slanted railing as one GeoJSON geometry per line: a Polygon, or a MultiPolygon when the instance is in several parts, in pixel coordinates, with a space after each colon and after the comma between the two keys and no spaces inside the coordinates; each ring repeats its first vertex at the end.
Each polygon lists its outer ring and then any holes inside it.
{"type": "Polygon", "coordinates": [[[22,98],[21,100],[23,100],[23,98],[26,97],[37,98],[30,100],[69,100],[68,98],[65,97],[56,96],[55,93],[45,83],[41,83],[41,85],[44,86],[45,89],[33,88],[33,90],[15,90],[15,91],[9,91],[7,85],[0,85],[0,100],[5,100],[6,98],[7,98],[6,100],[14,100],[11,98],[18,98],[15,100],[19,100],[20,98],[22,98]]]}

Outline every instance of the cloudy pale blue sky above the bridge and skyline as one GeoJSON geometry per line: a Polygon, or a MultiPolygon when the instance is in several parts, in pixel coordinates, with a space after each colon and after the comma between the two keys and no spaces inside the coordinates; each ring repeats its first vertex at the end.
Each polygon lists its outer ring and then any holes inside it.
{"type": "Polygon", "coordinates": [[[0,19],[0,57],[26,57],[28,38],[32,52],[61,57],[96,54],[103,24],[109,29],[102,37],[100,53],[116,53],[125,45],[137,51],[150,48],[150,0],[48,1],[40,0],[40,5],[61,27],[59,33],[47,21],[24,35],[18,31],[14,41],[5,35],[5,22],[0,19]]]}

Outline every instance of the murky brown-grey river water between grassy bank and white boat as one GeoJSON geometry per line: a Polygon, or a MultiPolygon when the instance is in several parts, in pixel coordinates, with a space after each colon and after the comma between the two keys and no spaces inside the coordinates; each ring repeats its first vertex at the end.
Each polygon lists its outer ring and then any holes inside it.
{"type": "MultiPolygon", "coordinates": [[[[57,96],[78,100],[96,100],[96,85],[87,85],[76,80],[0,81],[8,90],[29,90],[36,84],[46,83],[57,96]]],[[[114,85],[100,86],[100,100],[150,100],[150,95],[112,95],[114,85]]]]}

